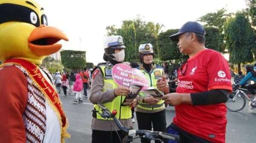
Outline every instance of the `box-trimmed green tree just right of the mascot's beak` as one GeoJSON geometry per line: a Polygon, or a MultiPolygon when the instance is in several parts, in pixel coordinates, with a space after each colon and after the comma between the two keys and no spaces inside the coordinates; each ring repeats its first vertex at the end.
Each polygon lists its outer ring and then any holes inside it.
{"type": "Polygon", "coordinates": [[[73,71],[82,69],[86,66],[85,53],[79,50],[63,50],[61,51],[61,63],[73,71]]]}

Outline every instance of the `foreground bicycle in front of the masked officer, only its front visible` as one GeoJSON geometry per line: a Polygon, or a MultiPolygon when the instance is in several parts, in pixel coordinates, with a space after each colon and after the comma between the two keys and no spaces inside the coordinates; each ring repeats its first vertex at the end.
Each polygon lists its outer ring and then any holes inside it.
{"type": "Polygon", "coordinates": [[[179,135],[169,134],[169,133],[165,133],[165,132],[149,131],[149,130],[136,130],[136,129],[124,127],[124,126],[122,126],[122,124],[119,122],[119,120],[115,116],[117,113],[116,110],[114,110],[113,112],[110,112],[109,109],[106,108],[100,102],[97,102],[97,105],[102,109],[101,112],[98,110],[95,110],[95,109],[93,109],[92,111],[98,112],[99,115],[101,115],[105,119],[113,118],[113,120],[115,121],[118,128],[122,132],[127,134],[127,136],[123,140],[121,140],[119,137],[120,143],[131,143],[132,140],[140,138],[140,137],[143,137],[143,138],[146,138],[149,140],[159,140],[162,143],[163,143],[163,141],[159,137],[163,137],[163,138],[171,139],[171,140],[177,140],[177,141],[180,139],[179,135]]]}

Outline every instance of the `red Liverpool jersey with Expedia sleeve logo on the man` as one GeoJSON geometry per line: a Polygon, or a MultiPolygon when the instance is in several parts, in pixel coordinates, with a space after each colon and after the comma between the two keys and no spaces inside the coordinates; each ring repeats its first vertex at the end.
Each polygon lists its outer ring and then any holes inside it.
{"type": "MultiPolygon", "coordinates": [[[[232,91],[229,64],[215,50],[202,50],[178,70],[177,93],[200,93],[213,89],[232,91]]],[[[186,132],[214,143],[225,143],[226,113],[224,103],[175,106],[173,123],[186,132]]]]}

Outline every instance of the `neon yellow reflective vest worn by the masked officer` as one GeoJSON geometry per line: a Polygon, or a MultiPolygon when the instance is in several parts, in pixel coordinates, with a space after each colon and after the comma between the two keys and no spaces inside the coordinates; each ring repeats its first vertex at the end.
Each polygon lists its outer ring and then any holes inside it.
{"type": "MultiPolygon", "coordinates": [[[[105,66],[100,67],[103,73],[103,79],[104,79],[104,85],[102,92],[105,92],[107,90],[112,90],[118,87],[116,82],[113,80],[111,76],[112,68],[108,68],[105,66]],[[105,73],[107,71],[107,74],[105,73]],[[110,72],[110,73],[109,73],[110,72]]],[[[128,119],[131,118],[131,107],[130,106],[121,106],[122,102],[124,101],[125,96],[117,96],[114,98],[112,102],[104,103],[103,105],[109,109],[110,112],[113,110],[116,110],[116,118],[118,119],[128,119]]],[[[94,105],[94,108],[98,110],[100,113],[102,113],[101,109],[98,105],[94,105]]],[[[105,118],[102,118],[99,113],[96,113],[97,119],[106,120],[105,118]]],[[[110,120],[113,120],[112,118],[110,120]]]]}

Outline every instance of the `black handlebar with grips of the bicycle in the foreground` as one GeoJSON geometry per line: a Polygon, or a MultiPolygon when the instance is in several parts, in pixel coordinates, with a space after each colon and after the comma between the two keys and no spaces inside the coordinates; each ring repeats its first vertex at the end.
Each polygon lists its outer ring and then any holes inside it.
{"type": "Polygon", "coordinates": [[[118,128],[122,131],[125,132],[128,135],[143,135],[144,138],[150,139],[150,140],[160,140],[159,136],[166,138],[166,139],[171,139],[171,140],[180,140],[179,135],[174,135],[174,134],[169,134],[165,132],[157,132],[157,131],[149,131],[149,130],[135,130],[135,129],[130,129],[128,127],[124,127],[120,121],[116,118],[115,115],[113,115],[108,108],[106,108],[102,103],[96,102],[96,104],[102,109],[102,113],[99,113],[97,110],[93,110],[94,112],[98,112],[99,115],[102,116],[102,118],[113,118],[115,121],[116,125],[118,128]]]}

